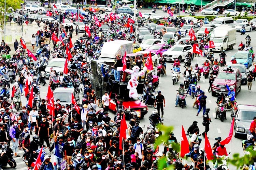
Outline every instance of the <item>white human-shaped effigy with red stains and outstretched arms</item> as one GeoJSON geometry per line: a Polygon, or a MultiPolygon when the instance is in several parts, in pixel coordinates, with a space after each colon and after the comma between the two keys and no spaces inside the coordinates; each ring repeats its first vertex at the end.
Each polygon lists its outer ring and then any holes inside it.
{"type": "MultiPolygon", "coordinates": [[[[117,71],[122,71],[123,67],[117,67],[117,71]]],[[[129,97],[136,99],[138,98],[138,92],[137,92],[137,86],[139,82],[137,81],[138,77],[142,76],[145,74],[147,71],[147,68],[144,67],[142,71],[139,71],[140,68],[138,66],[134,66],[132,70],[130,69],[125,69],[125,72],[131,74],[131,79],[129,80],[127,84],[127,89],[129,89],[129,97]]]]}

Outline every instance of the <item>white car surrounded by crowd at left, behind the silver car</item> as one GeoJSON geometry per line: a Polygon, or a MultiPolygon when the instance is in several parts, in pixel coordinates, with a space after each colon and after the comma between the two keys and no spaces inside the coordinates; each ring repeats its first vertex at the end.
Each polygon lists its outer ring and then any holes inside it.
{"type": "Polygon", "coordinates": [[[49,78],[51,68],[53,68],[53,70],[56,70],[57,73],[63,71],[65,62],[66,62],[66,58],[53,58],[51,61],[48,62],[48,65],[45,68],[45,71],[46,71],[45,77],[49,78]]]}

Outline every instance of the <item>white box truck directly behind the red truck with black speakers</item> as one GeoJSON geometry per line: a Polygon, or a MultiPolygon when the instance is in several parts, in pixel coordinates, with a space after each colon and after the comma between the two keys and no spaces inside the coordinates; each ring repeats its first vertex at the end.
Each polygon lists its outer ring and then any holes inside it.
{"type": "Polygon", "coordinates": [[[116,54],[124,56],[133,53],[133,41],[114,40],[105,42],[101,49],[101,58],[115,58],[116,54]]]}

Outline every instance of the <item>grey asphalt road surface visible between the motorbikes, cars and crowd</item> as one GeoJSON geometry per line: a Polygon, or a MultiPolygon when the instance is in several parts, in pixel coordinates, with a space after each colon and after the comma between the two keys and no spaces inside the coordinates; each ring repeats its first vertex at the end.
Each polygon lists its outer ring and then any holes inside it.
{"type": "MultiPolygon", "coordinates": [[[[148,12],[148,10],[141,10],[142,12],[148,12]]],[[[156,11],[157,15],[161,15],[161,16],[167,16],[167,13],[163,13],[162,11],[157,10],[156,11]]],[[[181,13],[181,15],[184,15],[183,13],[181,13]]],[[[188,15],[188,14],[187,14],[188,15]]],[[[174,15],[176,16],[176,15],[174,15]]],[[[251,42],[251,47],[255,47],[256,46],[256,32],[249,32],[250,36],[252,37],[252,42],[251,42]]],[[[245,36],[246,35],[240,35],[240,33],[237,33],[237,44],[240,43],[240,41],[244,41],[245,40],[245,36]]],[[[236,52],[238,51],[237,46],[234,46],[233,50],[227,50],[227,59],[226,61],[230,61],[230,57],[232,55],[234,55],[236,52]]],[[[214,52],[214,56],[218,57],[219,52],[214,52]]],[[[202,56],[200,57],[195,57],[193,62],[192,62],[192,66],[194,67],[194,65],[196,63],[198,63],[199,65],[201,65],[203,62],[205,61],[205,58],[203,58],[202,56]]],[[[197,109],[196,108],[192,108],[194,99],[191,99],[190,96],[188,96],[186,98],[186,103],[187,103],[187,107],[182,109],[180,107],[175,107],[175,94],[176,94],[176,89],[179,87],[179,83],[172,85],[171,82],[171,68],[172,68],[172,63],[167,62],[167,76],[162,76],[159,78],[160,80],[160,84],[157,87],[157,90],[161,90],[162,91],[162,95],[165,96],[166,99],[166,107],[164,108],[164,124],[168,125],[168,126],[173,126],[174,127],[174,135],[177,138],[177,140],[180,142],[181,141],[181,125],[184,126],[185,131],[187,131],[188,127],[192,124],[192,122],[194,120],[198,121],[198,126],[200,129],[200,133],[202,133],[204,131],[204,126],[202,125],[202,121],[203,121],[203,117],[202,117],[202,111],[200,112],[200,115],[197,117],[197,109]]],[[[181,71],[183,72],[185,70],[184,63],[181,63],[181,71]]],[[[221,69],[221,68],[220,68],[221,69]]],[[[183,78],[180,78],[180,82],[183,82],[183,78]]],[[[230,111],[227,112],[227,120],[224,120],[224,122],[221,122],[219,119],[214,119],[215,117],[215,101],[216,101],[216,97],[212,97],[210,93],[208,93],[208,87],[209,87],[209,78],[208,79],[204,79],[202,77],[202,79],[200,80],[200,82],[198,83],[198,85],[201,86],[201,89],[203,91],[205,91],[205,95],[207,95],[207,107],[211,108],[210,111],[210,118],[212,118],[212,123],[210,124],[210,131],[208,132],[208,137],[211,143],[211,146],[213,146],[213,143],[215,142],[214,138],[221,136],[222,139],[225,139],[228,134],[229,134],[229,129],[230,129],[230,122],[231,122],[231,117],[230,115],[230,111]]],[[[48,80],[47,80],[48,83],[48,80]]],[[[13,85],[13,84],[12,84],[13,85]]],[[[11,87],[12,87],[11,85],[11,87]]],[[[252,92],[249,93],[249,91],[247,90],[247,86],[242,86],[241,92],[239,92],[238,96],[237,96],[237,103],[238,104],[255,104],[255,102],[253,102],[253,98],[256,95],[256,84],[255,82],[253,82],[253,86],[252,86],[252,92]]],[[[45,98],[45,96],[47,95],[47,89],[48,89],[48,84],[46,84],[45,86],[41,86],[40,88],[40,94],[41,94],[41,98],[45,98]]],[[[25,105],[26,103],[26,99],[23,96],[22,97],[22,102],[23,105],[25,105]]],[[[154,108],[152,106],[148,106],[148,114],[145,116],[145,118],[143,120],[141,120],[140,126],[144,126],[145,128],[143,128],[144,131],[146,131],[146,126],[149,124],[149,120],[148,120],[148,116],[150,116],[150,114],[152,113],[152,111],[154,110],[154,108]]],[[[114,118],[113,114],[110,114],[110,117],[114,118]]],[[[128,121],[127,121],[128,124],[128,121]]],[[[34,132],[33,132],[34,134],[34,132]]],[[[32,138],[32,136],[31,136],[32,138]]],[[[228,152],[232,152],[233,153],[240,153],[243,154],[243,150],[241,147],[241,142],[242,139],[238,139],[238,138],[232,138],[231,142],[226,145],[227,151],[228,152]]],[[[202,140],[202,143],[200,145],[200,148],[204,148],[204,139],[202,140]]],[[[160,149],[162,149],[162,147],[160,147],[160,149]]],[[[48,149],[46,149],[46,152],[48,152],[48,149]]],[[[22,150],[18,150],[18,154],[23,155],[23,151],[22,150]]],[[[232,157],[232,155],[231,155],[232,157]]],[[[25,170],[27,169],[27,166],[25,165],[25,163],[22,160],[22,157],[14,157],[14,159],[16,160],[17,163],[17,167],[16,169],[19,170],[25,170]]],[[[53,162],[53,160],[52,160],[53,162]]],[[[184,160],[183,163],[189,163],[191,164],[191,161],[186,161],[184,160]]],[[[4,169],[12,169],[9,166],[4,168],[4,169]]],[[[236,169],[233,166],[230,166],[230,169],[236,169]]]]}

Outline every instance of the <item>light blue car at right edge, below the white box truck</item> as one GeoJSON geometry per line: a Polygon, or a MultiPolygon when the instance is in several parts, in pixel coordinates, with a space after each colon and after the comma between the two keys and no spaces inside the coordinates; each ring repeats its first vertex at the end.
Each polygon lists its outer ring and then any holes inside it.
{"type": "Polygon", "coordinates": [[[252,54],[249,51],[238,51],[234,56],[238,64],[243,64],[248,69],[252,63],[252,54]]]}

